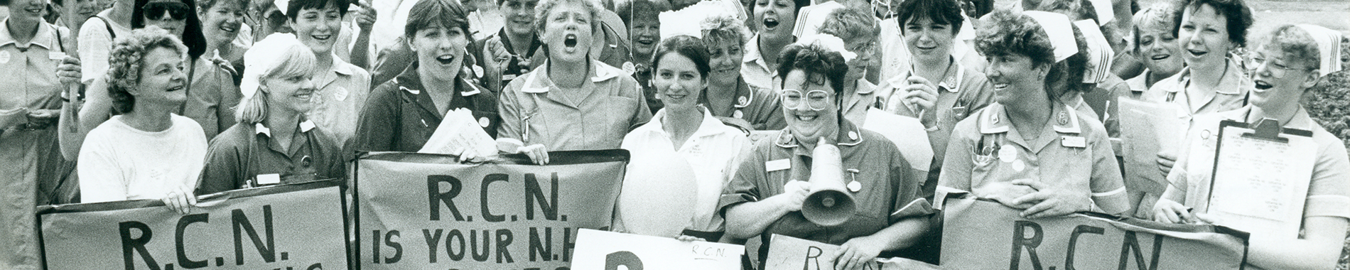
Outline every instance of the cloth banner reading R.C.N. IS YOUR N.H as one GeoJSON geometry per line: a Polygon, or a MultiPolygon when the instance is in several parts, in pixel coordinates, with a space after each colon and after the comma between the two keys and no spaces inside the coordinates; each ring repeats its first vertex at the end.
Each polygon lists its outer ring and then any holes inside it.
{"type": "Polygon", "coordinates": [[[568,269],[578,230],[610,225],[626,150],[459,163],[371,153],[356,161],[362,269],[568,269]]]}

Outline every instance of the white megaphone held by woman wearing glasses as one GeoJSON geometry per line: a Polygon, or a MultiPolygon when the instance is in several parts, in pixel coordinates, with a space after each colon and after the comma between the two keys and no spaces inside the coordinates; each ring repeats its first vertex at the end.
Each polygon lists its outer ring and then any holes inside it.
{"type": "Polygon", "coordinates": [[[821,138],[811,151],[811,192],[802,202],[802,216],[818,225],[838,225],[853,217],[857,207],[844,182],[840,148],[821,138]]]}

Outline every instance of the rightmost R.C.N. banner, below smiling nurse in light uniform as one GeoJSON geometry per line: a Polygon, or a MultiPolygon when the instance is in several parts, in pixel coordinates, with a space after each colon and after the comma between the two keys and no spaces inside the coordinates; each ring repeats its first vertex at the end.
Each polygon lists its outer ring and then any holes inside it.
{"type": "Polygon", "coordinates": [[[1241,269],[1247,234],[1219,225],[1162,224],[1073,213],[1022,219],[999,202],[946,198],[944,269],[1241,269]]]}

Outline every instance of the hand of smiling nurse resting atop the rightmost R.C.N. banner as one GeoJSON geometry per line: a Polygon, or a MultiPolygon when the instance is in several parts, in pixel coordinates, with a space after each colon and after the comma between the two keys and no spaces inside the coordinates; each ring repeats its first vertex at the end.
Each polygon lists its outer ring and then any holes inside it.
{"type": "Polygon", "coordinates": [[[1026,219],[1065,216],[1092,209],[1092,197],[1085,192],[1050,186],[1034,180],[1014,180],[1013,185],[1026,185],[1037,190],[1035,193],[1013,200],[1014,205],[1034,204],[1022,211],[1022,217],[1026,219]]]}

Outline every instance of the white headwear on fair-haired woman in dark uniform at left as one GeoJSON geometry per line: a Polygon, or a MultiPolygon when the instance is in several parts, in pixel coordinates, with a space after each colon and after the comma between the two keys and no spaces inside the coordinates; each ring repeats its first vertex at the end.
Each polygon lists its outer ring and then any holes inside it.
{"type": "Polygon", "coordinates": [[[278,32],[267,35],[267,38],[254,43],[248,51],[244,51],[244,76],[239,82],[239,92],[243,93],[244,100],[258,92],[263,76],[286,62],[282,55],[290,50],[308,51],[309,47],[300,43],[300,39],[296,39],[293,34],[278,32]]]}

